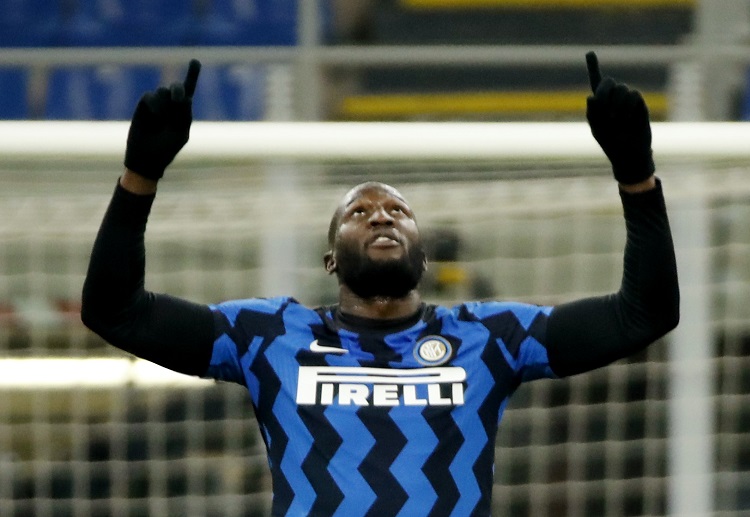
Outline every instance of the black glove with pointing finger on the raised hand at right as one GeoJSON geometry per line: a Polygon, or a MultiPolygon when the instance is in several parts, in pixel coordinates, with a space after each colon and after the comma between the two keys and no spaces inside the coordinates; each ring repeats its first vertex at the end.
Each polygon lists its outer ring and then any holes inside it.
{"type": "Polygon", "coordinates": [[[624,185],[646,180],[654,173],[648,108],[637,90],[602,79],[594,52],[586,54],[593,95],[586,100],[591,134],[612,163],[615,179],[624,185]]]}

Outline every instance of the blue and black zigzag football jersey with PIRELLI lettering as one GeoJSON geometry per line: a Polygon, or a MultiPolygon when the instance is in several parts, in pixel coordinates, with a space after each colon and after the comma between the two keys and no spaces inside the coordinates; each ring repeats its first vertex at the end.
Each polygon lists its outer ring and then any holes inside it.
{"type": "Polygon", "coordinates": [[[489,515],[495,436],[521,382],[554,377],[550,307],[424,305],[354,331],[292,298],[212,306],[207,377],[247,387],[273,515],[489,515]]]}

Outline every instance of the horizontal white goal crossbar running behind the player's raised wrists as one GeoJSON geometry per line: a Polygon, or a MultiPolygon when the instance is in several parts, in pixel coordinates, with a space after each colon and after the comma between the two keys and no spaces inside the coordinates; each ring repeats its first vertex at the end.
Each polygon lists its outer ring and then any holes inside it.
{"type": "MultiPolygon", "coordinates": [[[[119,156],[127,122],[0,121],[5,156],[119,156]]],[[[662,159],[748,158],[750,124],[657,122],[662,159]]],[[[584,122],[194,122],[179,159],[451,160],[595,158],[584,122]]]]}

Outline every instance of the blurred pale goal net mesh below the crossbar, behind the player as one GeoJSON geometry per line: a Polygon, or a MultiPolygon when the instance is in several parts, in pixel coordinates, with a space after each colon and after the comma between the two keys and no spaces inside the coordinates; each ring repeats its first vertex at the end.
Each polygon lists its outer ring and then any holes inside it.
{"type": "MultiPolygon", "coordinates": [[[[77,312],[119,164],[119,156],[0,158],[0,361],[124,357],[77,312]]],[[[715,514],[742,515],[750,510],[747,166],[670,158],[659,169],[670,208],[705,207],[710,342],[702,346],[712,359],[703,366],[714,373],[706,394],[714,466],[705,474],[715,514]]],[[[321,266],[329,218],[366,179],[398,187],[415,209],[432,254],[428,301],[549,304],[619,284],[625,231],[603,158],[528,156],[178,160],[149,222],[147,285],[202,302],[265,294],[331,302],[334,281],[321,266]]],[[[500,426],[493,515],[666,515],[670,339],[606,369],[522,386],[500,426]]],[[[81,375],[83,364],[73,366],[81,375]]],[[[0,515],[268,515],[263,444],[242,388],[40,387],[47,372],[0,384],[0,515]]]]}

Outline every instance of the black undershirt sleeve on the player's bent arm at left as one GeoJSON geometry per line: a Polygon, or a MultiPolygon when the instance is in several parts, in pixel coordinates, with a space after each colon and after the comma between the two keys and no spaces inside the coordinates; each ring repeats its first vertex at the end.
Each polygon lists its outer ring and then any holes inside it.
{"type": "Polygon", "coordinates": [[[119,183],[94,241],[81,319],[110,344],[189,375],[208,369],[214,319],[207,305],[144,288],[146,221],[154,195],[119,183]]]}

